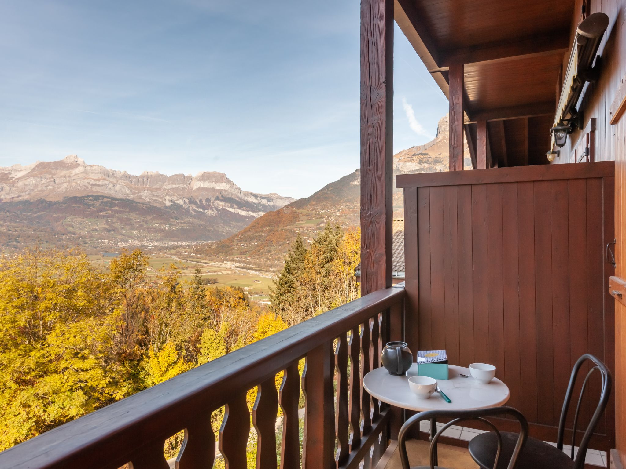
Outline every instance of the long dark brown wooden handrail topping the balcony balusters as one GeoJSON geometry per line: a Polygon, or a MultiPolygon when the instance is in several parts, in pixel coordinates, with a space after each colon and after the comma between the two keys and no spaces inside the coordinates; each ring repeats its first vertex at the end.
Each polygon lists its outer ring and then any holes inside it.
{"type": "Polygon", "coordinates": [[[233,394],[404,298],[403,286],[369,295],[235,350],[205,365],[46,431],[0,453],[0,467],[13,469],[94,468],[136,453],[137,440],[182,430],[181,416],[213,411],[233,394]]]}

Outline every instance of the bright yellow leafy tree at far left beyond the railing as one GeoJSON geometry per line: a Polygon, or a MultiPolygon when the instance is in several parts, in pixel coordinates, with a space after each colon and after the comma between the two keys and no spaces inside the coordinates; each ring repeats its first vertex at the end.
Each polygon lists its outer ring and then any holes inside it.
{"type": "Polygon", "coordinates": [[[0,263],[0,450],[126,395],[110,286],[76,251],[0,263]]]}

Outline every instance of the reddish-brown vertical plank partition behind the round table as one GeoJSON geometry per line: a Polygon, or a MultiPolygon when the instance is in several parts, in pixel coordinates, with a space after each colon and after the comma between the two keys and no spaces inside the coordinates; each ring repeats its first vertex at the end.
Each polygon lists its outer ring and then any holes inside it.
{"type": "MultiPolygon", "coordinates": [[[[531,433],[556,441],[577,358],[613,368],[613,162],[411,174],[398,186],[409,347],[445,349],[453,365],[492,363],[531,433]]],[[[585,398],[584,425],[597,397],[585,398]]],[[[612,406],[606,415],[602,450],[615,432],[612,406]]]]}

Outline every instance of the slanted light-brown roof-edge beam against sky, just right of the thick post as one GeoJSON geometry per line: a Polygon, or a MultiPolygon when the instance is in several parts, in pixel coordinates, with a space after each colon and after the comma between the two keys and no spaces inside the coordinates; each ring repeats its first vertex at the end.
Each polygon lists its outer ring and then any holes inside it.
{"type": "MultiPolygon", "coordinates": [[[[427,69],[438,68],[439,57],[438,48],[435,46],[433,38],[428,28],[422,21],[423,14],[418,11],[418,6],[411,0],[394,1],[394,19],[404,36],[409,40],[413,49],[418,53],[427,69]]],[[[447,71],[447,68],[446,68],[447,71]]],[[[448,82],[441,74],[441,70],[433,72],[433,79],[448,98],[448,82]]]]}

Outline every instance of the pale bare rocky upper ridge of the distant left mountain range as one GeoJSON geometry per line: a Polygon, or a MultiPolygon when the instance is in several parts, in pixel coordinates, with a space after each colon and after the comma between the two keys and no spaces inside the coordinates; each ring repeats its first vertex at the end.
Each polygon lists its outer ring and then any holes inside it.
{"type": "Polygon", "coordinates": [[[0,168],[0,201],[56,201],[88,195],[131,199],[160,207],[178,204],[192,213],[221,217],[226,224],[233,217],[236,223],[247,224],[250,219],[294,201],[275,194],[242,191],[226,174],[217,171],[202,171],[195,178],[182,173],[167,176],[158,171],[143,171],[135,176],[86,164],[75,154],[57,161],[0,168]]]}

